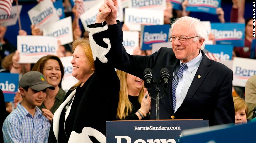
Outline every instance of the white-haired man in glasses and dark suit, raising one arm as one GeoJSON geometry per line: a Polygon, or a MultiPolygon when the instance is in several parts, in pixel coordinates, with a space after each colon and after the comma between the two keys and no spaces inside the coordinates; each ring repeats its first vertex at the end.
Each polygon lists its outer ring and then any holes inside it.
{"type": "MultiPolygon", "coordinates": [[[[163,83],[159,85],[159,97],[165,94],[159,101],[159,119],[206,119],[210,126],[234,123],[233,71],[208,59],[203,53],[206,30],[200,20],[191,17],[177,19],[172,24],[169,37],[172,48],[162,47],[149,56],[133,56],[127,54],[122,45],[123,33],[116,21],[117,10],[117,0],[105,1],[99,8],[96,24],[88,26],[94,31],[90,33],[96,33],[91,38],[110,39],[109,52],[113,56],[108,60],[117,69],[143,79],[144,69],[151,68],[155,81],[160,81],[161,68],[166,67],[170,71],[166,93],[163,83]],[[97,34],[96,31],[104,28],[108,30],[97,34]]],[[[93,50],[95,58],[102,56],[97,49],[93,50]]],[[[151,84],[151,97],[155,98],[154,91],[155,85],[151,84]]],[[[150,118],[155,119],[156,104],[151,101],[150,118]]]]}

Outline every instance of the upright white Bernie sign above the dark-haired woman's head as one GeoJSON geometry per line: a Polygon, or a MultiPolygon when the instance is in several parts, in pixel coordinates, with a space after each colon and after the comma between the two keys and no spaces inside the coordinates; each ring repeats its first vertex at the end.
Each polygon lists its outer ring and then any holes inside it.
{"type": "Polygon", "coordinates": [[[57,38],[47,36],[17,36],[19,63],[36,63],[46,55],[57,55],[57,38]]]}

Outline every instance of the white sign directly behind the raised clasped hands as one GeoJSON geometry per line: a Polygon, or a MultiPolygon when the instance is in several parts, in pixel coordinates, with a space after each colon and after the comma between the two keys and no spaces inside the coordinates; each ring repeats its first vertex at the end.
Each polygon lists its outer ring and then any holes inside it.
{"type": "MultiPolygon", "coordinates": [[[[87,25],[94,24],[96,22],[96,16],[99,12],[100,6],[103,4],[103,0],[99,1],[96,5],[86,10],[81,16],[81,22],[84,26],[84,29],[87,31],[87,25]]],[[[117,12],[117,20],[120,20],[120,22],[123,22],[123,10],[121,6],[121,1],[118,0],[118,12],[117,12]]]]}

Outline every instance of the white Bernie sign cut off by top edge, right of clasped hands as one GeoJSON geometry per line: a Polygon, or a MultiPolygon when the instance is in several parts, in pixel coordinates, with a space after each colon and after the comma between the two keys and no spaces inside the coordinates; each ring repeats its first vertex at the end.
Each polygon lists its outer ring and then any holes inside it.
{"type": "Polygon", "coordinates": [[[145,9],[155,9],[162,10],[166,9],[166,0],[130,0],[128,8],[145,8],[145,9]]]}

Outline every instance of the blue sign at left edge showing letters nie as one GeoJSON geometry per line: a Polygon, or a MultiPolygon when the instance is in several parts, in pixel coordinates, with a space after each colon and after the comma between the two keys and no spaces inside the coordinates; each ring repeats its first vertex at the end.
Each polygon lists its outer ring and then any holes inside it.
{"type": "Polygon", "coordinates": [[[13,101],[15,92],[18,91],[19,74],[0,73],[0,89],[4,93],[5,102],[13,101]]]}

